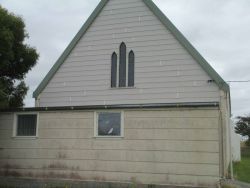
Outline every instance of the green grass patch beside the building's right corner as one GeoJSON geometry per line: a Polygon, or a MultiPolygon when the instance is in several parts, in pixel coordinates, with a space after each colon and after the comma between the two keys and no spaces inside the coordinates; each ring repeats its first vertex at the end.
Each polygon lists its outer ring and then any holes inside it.
{"type": "Polygon", "coordinates": [[[250,183],[250,148],[242,148],[241,162],[234,163],[234,176],[239,181],[250,183]]]}

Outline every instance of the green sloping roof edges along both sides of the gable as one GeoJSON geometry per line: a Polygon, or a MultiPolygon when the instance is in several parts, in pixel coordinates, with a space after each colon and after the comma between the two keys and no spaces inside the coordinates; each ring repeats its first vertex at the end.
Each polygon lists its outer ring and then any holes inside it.
{"type": "MultiPolygon", "coordinates": [[[[62,55],[50,69],[48,74],[39,84],[37,89],[33,93],[33,97],[37,98],[43,89],[47,86],[49,81],[53,78],[57,70],[61,67],[68,55],[77,45],[81,37],[86,33],[88,28],[92,25],[96,17],[99,15],[103,7],[109,0],[101,0],[94,12],[87,19],[82,28],[78,31],[76,36],[70,42],[68,47],[64,50],[62,55]]],[[[184,35],[174,26],[174,24],[161,12],[161,10],[152,2],[152,0],[142,0],[147,7],[154,13],[154,15],[162,22],[162,24],[174,35],[174,37],[180,42],[180,44],[190,53],[190,55],[197,61],[197,63],[207,72],[207,74],[213,79],[213,81],[226,92],[230,92],[229,85],[221,78],[221,76],[209,65],[209,63],[201,56],[201,54],[193,47],[193,45],[184,37],[184,35]]]]}

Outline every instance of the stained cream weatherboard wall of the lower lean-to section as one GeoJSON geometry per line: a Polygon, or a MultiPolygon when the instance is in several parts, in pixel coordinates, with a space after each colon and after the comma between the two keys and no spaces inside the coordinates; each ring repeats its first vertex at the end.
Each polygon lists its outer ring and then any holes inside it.
{"type": "Polygon", "coordinates": [[[14,139],[0,115],[0,174],[215,186],[217,108],[125,110],[124,138],[94,138],[94,112],[40,112],[38,139],[14,139]]]}

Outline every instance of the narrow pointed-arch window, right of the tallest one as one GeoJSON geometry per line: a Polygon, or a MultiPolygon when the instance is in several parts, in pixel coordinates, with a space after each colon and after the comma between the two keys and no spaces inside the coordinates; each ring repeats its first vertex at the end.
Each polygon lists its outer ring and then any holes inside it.
{"type": "Polygon", "coordinates": [[[133,87],[135,77],[135,54],[133,50],[129,52],[128,55],[128,87],[133,87]]]}

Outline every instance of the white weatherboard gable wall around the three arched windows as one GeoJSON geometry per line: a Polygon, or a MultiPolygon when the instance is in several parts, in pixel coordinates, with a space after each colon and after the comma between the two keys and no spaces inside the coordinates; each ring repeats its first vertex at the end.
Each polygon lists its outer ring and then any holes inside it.
{"type": "MultiPolygon", "coordinates": [[[[118,58],[119,59],[119,58],[118,58]]],[[[219,88],[142,0],[110,0],[38,98],[79,106],[218,102],[219,88]],[[135,53],[135,88],[111,89],[111,55],[135,53]]]]}

